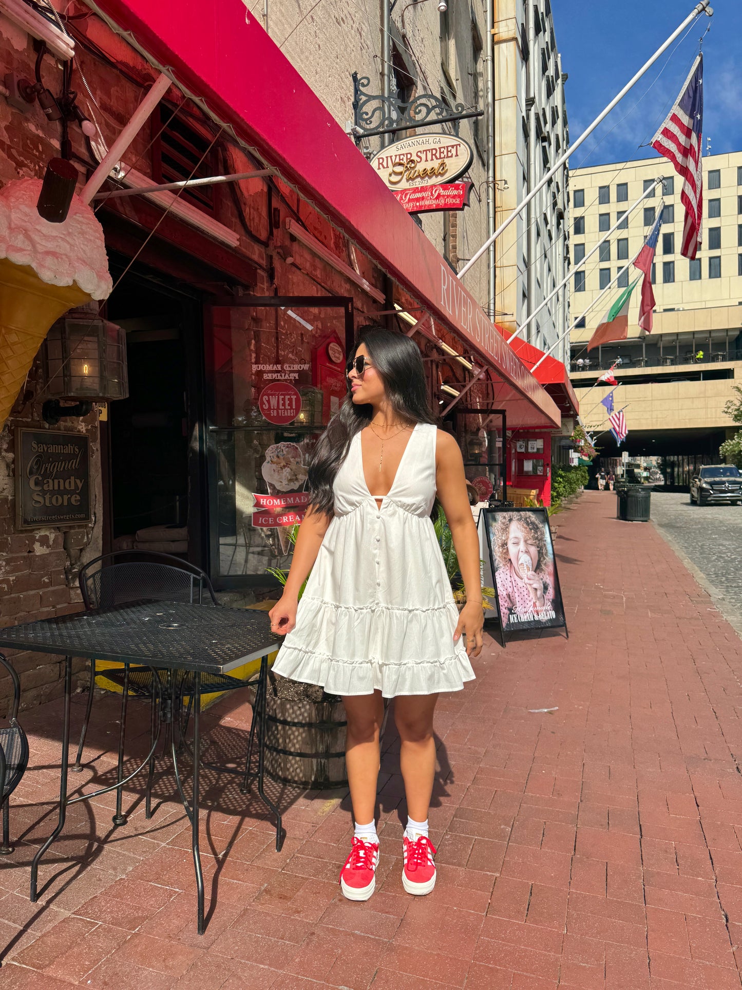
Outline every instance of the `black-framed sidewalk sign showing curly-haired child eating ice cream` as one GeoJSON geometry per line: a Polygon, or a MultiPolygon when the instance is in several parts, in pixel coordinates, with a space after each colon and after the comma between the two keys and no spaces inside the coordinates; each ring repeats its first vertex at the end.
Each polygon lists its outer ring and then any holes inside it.
{"type": "Polygon", "coordinates": [[[566,629],[546,510],[483,511],[503,632],[566,629]]]}

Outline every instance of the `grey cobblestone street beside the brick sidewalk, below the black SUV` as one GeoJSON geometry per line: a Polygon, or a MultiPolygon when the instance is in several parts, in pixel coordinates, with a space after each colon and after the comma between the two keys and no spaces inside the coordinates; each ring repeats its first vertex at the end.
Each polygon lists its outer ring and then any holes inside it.
{"type": "Polygon", "coordinates": [[[652,520],[702,574],[718,608],[742,633],[742,506],[697,506],[685,492],[653,492],[652,520]]]}

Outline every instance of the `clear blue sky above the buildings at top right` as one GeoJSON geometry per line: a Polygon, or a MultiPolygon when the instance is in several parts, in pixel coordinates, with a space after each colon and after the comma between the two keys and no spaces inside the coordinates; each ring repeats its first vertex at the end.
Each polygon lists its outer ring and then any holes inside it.
{"type": "MultiPolygon", "coordinates": [[[[573,142],[694,6],[694,0],[551,0],[562,70],[569,73],[573,142]]],[[[703,147],[709,137],[712,154],[742,149],[742,0],[711,0],[711,6],[713,17],[697,18],[680,45],[679,39],[660,56],[575,151],[571,168],[656,155],[639,146],[664,120],[709,25],[703,39],[703,147]]]]}

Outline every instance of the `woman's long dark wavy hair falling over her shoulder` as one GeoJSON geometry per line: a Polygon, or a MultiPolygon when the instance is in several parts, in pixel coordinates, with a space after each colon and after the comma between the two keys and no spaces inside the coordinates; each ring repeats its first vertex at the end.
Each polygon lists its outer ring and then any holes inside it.
{"type": "MultiPolygon", "coordinates": [[[[404,423],[435,424],[430,411],[425,372],[419,348],[409,337],[384,327],[364,327],[360,340],[348,354],[365,345],[371,362],[379,372],[387,399],[395,416],[404,423]]],[[[329,421],[325,433],[312,452],[309,464],[310,501],[325,516],[334,513],[332,485],[347,456],[350,442],[371,422],[372,407],[356,405],[350,391],[340,409],[329,421]]]]}

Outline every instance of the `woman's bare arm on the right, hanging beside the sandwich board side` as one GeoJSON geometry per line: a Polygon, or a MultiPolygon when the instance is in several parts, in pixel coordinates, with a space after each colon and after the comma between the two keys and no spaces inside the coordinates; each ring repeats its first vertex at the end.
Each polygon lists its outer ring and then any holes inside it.
{"type": "Polygon", "coordinates": [[[482,649],[482,581],[479,562],[479,535],[466,494],[464,460],[456,441],[438,431],[435,448],[435,484],[446,514],[453,545],[466,589],[466,605],[461,611],[455,639],[466,633],[467,652],[477,656],[482,649]]]}

